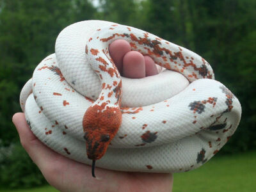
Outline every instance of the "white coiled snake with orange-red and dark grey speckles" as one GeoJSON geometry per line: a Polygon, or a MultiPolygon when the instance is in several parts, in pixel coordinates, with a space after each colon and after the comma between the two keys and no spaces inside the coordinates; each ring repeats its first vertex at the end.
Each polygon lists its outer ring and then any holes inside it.
{"type": "Polygon", "coordinates": [[[198,168],[227,143],[241,119],[239,100],[214,80],[204,58],[104,20],[84,20],[61,31],[55,53],[22,88],[20,106],[33,134],[52,150],[125,172],[198,168]],[[141,79],[120,76],[108,49],[118,39],[163,70],[141,79]]]}

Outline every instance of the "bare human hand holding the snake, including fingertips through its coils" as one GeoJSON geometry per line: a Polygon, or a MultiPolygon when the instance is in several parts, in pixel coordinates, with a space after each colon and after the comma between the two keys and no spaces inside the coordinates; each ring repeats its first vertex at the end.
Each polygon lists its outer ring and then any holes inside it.
{"type": "MultiPolygon", "coordinates": [[[[109,46],[109,52],[120,74],[129,78],[157,74],[156,65],[149,56],[131,51],[124,40],[116,41],[109,46]]],[[[61,156],[38,140],[29,129],[24,113],[16,113],[12,120],[22,147],[47,182],[60,191],[172,191],[171,173],[118,172],[95,168],[98,177],[95,179],[92,177],[92,166],[61,156]]]]}

